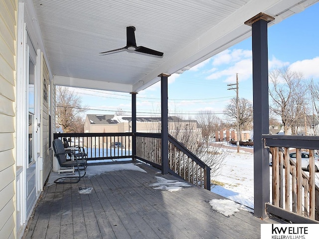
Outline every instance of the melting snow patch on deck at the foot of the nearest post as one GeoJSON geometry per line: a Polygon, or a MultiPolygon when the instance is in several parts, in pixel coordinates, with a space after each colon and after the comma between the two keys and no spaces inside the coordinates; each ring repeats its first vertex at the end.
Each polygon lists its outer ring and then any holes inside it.
{"type": "Polygon", "coordinates": [[[236,212],[239,212],[239,210],[252,212],[251,209],[245,207],[244,205],[240,205],[228,199],[212,199],[209,201],[209,204],[213,210],[223,214],[226,217],[234,215],[236,212]]]}

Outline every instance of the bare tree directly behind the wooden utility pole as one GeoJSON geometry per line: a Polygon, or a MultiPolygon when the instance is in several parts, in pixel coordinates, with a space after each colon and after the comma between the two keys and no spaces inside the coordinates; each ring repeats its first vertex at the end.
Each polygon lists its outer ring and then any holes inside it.
{"type": "MultiPolygon", "coordinates": [[[[239,113],[238,113],[238,128],[239,132],[242,130],[250,130],[253,122],[253,104],[245,98],[238,99],[239,113]]],[[[233,119],[233,125],[237,126],[237,105],[236,98],[231,99],[231,103],[224,109],[224,114],[230,119],[233,119]]],[[[241,140],[241,133],[239,133],[241,140]]]]}

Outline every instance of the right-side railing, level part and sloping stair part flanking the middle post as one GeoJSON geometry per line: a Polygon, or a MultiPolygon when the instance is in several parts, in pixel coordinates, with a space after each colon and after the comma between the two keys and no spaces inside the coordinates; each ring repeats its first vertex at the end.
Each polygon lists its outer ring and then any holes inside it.
{"type": "MultiPolygon", "coordinates": [[[[184,145],[168,135],[169,173],[210,190],[210,168],[184,145]]],[[[136,133],[136,157],[161,169],[160,133],[136,133]]]]}

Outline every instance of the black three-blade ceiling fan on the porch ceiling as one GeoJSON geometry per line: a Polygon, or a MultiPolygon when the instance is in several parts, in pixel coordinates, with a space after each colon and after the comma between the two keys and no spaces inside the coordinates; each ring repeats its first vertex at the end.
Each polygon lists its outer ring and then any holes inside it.
{"type": "Polygon", "coordinates": [[[151,55],[155,55],[155,56],[162,56],[164,54],[160,51],[156,51],[156,50],[144,47],[144,46],[137,46],[136,40],[135,40],[135,27],[134,26],[127,26],[126,27],[126,46],[125,47],[121,47],[121,48],[110,50],[110,51],[100,52],[100,54],[120,51],[120,50],[124,50],[124,49],[127,49],[129,51],[137,51],[137,52],[142,52],[142,53],[146,53],[146,54],[151,54],[151,55]]]}

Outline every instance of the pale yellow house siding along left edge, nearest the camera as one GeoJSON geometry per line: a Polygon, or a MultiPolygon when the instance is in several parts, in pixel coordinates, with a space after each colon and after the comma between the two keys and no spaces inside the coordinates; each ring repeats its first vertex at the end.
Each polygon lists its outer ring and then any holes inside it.
{"type": "Polygon", "coordinates": [[[15,238],[16,0],[0,1],[0,238],[15,238]]]}

